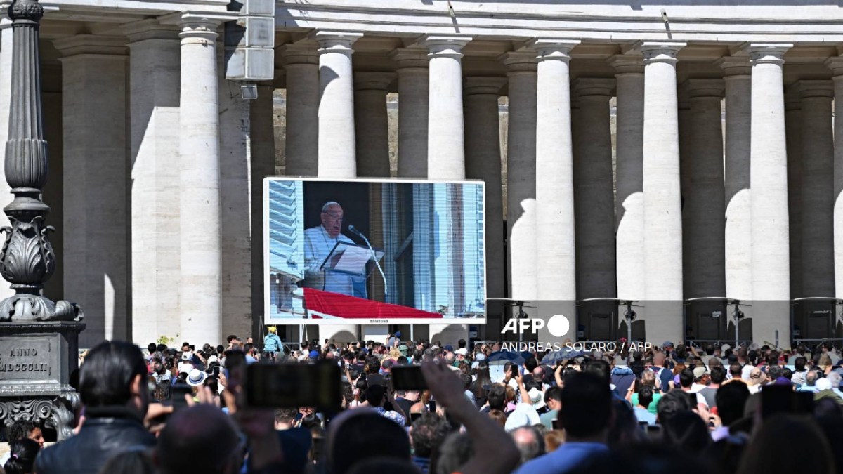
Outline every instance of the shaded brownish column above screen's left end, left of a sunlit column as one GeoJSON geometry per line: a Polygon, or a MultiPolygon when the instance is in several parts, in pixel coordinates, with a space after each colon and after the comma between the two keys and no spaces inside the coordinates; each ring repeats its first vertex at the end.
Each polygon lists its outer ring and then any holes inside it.
{"type": "Polygon", "coordinates": [[[281,50],[287,81],[284,159],[288,176],[315,176],[319,172],[319,55],[316,49],[313,41],[303,41],[284,45],[281,50]]]}

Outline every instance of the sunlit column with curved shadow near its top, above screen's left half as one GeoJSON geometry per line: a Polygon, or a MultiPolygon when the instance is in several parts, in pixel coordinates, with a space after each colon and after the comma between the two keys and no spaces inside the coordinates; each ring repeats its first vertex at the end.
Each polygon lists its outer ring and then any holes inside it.
{"type": "Polygon", "coordinates": [[[357,177],[352,45],[360,33],[317,31],[319,42],[319,177],[357,177]]]}

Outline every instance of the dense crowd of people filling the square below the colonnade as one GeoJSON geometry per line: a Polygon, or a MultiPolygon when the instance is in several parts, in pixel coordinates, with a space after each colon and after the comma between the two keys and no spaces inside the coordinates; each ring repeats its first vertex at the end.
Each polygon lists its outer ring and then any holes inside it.
{"type": "Polygon", "coordinates": [[[8,474],[843,472],[841,358],[664,342],[646,353],[521,353],[500,343],[102,342],[75,434],[8,434],[8,474]],[[341,407],[250,407],[249,364],[336,364],[341,407]],[[425,390],[395,390],[420,366],[425,390]],[[396,377],[398,374],[396,372],[396,377]]]}

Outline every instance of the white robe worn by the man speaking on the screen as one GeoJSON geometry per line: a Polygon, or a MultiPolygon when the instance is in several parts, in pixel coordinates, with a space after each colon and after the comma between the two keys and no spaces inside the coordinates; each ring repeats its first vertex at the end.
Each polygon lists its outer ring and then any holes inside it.
{"type": "Polygon", "coordinates": [[[304,286],[366,298],[365,294],[354,294],[354,283],[360,280],[358,277],[341,272],[323,272],[319,269],[325,258],[330,255],[330,251],[334,250],[337,242],[354,245],[354,241],[343,234],[338,234],[336,238],[331,237],[321,225],[304,231],[304,267],[306,268],[304,286]]]}

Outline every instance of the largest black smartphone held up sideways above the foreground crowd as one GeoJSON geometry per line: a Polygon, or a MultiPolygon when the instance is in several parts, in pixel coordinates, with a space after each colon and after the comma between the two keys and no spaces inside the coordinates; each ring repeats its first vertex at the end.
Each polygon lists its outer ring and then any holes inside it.
{"type": "Polygon", "coordinates": [[[246,405],[263,408],[341,406],[340,367],[318,364],[250,364],[246,368],[246,405]]]}

